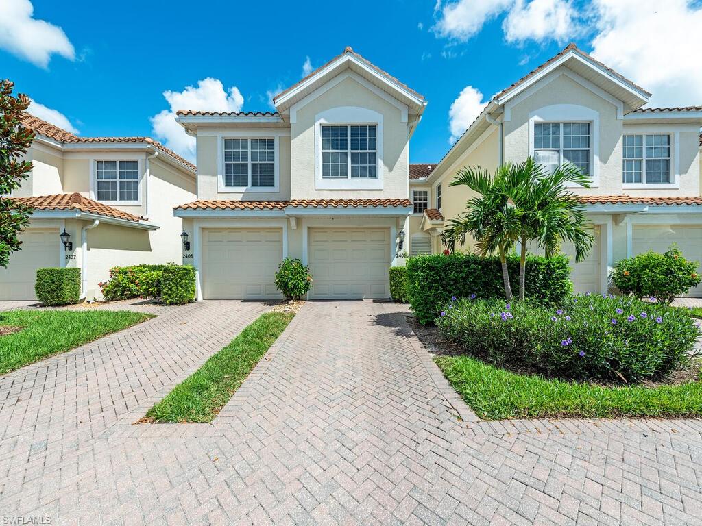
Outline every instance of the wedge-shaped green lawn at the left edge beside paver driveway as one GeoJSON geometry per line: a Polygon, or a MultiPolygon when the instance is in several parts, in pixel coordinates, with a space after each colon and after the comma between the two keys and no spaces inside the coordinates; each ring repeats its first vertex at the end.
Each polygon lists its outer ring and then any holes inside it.
{"type": "Polygon", "coordinates": [[[131,311],[8,311],[0,313],[0,375],[131,327],[150,314],[131,311]]]}

